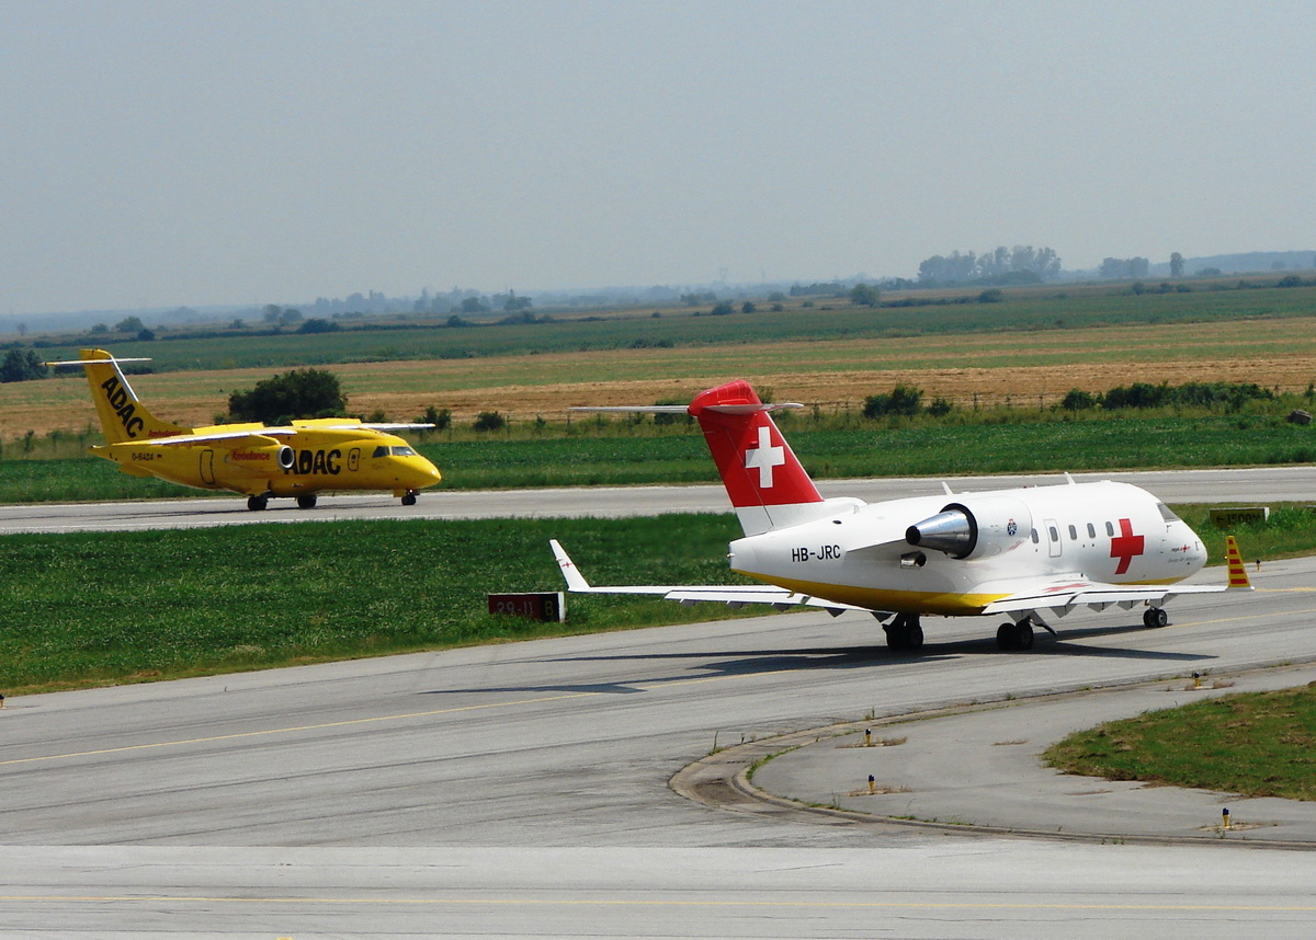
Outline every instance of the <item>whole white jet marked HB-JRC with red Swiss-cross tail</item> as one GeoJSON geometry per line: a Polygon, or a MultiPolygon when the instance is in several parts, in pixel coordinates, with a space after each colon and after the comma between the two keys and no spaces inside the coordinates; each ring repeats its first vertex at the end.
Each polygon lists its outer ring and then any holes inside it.
{"type": "Polygon", "coordinates": [[[1033,627],[1087,606],[1145,606],[1163,627],[1178,594],[1252,590],[1233,538],[1229,582],[1184,585],[1207,561],[1192,529],[1138,486],[1075,482],[865,504],[824,500],[749,383],[699,394],[688,406],[588,408],[692,415],[721,473],[745,538],[732,571],[766,585],[591,586],[557,540],[554,556],[579,593],[662,594],[682,603],[722,601],[871,613],[892,649],[923,646],[923,614],[996,615],[1001,649],[1029,649],[1033,627]]]}

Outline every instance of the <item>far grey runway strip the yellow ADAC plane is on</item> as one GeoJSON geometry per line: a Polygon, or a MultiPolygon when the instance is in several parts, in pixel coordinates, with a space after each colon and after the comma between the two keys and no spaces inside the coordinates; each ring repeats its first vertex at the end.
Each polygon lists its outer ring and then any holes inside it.
{"type": "MultiPolygon", "coordinates": [[[[1316,467],[1286,465],[1208,471],[1148,471],[1134,473],[1076,473],[1074,479],[1120,480],[1155,493],[1170,504],[1316,500],[1316,467]]],[[[944,492],[1042,486],[1065,482],[1063,475],[1041,473],[994,477],[871,477],[820,480],[825,497],[857,496],[867,502],[944,492]]],[[[316,509],[297,509],[291,500],[272,500],[253,513],[237,496],[186,500],[18,504],[0,506],[0,534],[59,531],[120,531],[137,529],[191,529],[258,522],[333,519],[487,519],[505,517],[625,517],[658,513],[729,511],[721,485],[708,486],[596,486],[522,490],[428,490],[415,506],[379,493],[324,496],[316,509]]]]}

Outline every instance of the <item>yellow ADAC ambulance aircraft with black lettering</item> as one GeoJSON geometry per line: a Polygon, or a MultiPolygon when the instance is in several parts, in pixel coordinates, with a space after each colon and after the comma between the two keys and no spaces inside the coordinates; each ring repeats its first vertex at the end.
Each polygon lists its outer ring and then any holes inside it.
{"type": "Polygon", "coordinates": [[[288,427],[211,425],[183,427],[161,421],[137,398],[120,363],[104,350],[47,365],[82,365],[105,433],[92,454],[130,476],[154,476],[199,489],[242,493],[247,509],[272,496],[296,497],[311,509],[322,490],[391,490],[404,506],[440,481],[434,464],[391,430],[433,425],[367,425],[354,418],[293,421],[288,427]]]}

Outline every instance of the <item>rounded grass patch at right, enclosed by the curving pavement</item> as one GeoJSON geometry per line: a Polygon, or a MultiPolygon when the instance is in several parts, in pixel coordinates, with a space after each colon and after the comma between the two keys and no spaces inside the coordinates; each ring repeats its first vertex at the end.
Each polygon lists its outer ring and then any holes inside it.
{"type": "Polygon", "coordinates": [[[1044,756],[1088,777],[1316,799],[1316,682],[1107,722],[1044,756]]]}

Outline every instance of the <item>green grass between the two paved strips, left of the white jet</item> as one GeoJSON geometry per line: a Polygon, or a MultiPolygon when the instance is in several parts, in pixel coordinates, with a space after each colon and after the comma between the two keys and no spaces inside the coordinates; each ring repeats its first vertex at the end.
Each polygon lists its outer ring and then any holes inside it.
{"type": "Polygon", "coordinates": [[[0,553],[0,690],[725,617],[720,605],[588,597],[569,601],[567,623],[540,624],[488,615],[484,596],[562,590],[553,536],[599,584],[725,582],[736,535],[729,514],[12,535],[0,553]]]}

